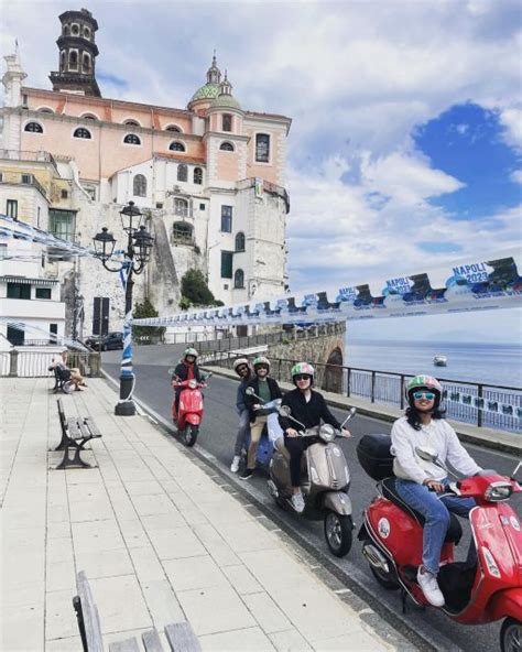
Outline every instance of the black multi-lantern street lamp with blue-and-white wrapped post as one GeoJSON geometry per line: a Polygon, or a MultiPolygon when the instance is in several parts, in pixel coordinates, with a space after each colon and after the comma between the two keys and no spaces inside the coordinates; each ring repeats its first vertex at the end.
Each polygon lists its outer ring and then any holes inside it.
{"type": "Polygon", "coordinates": [[[154,238],[142,225],[143,214],[134,206],[134,202],[120,210],[121,226],[127,233],[127,251],[123,262],[112,268],[107,264],[115,251],[116,240],[104,227],[94,238],[95,256],[109,272],[122,272],[122,283],[126,289],[126,319],[123,323],[123,354],[120,371],[120,400],[115,408],[115,414],[119,416],[132,416],[135,414],[135,405],[132,400],[134,390],[134,373],[132,371],[132,287],[133,274],[141,274],[150,260],[154,238]]]}

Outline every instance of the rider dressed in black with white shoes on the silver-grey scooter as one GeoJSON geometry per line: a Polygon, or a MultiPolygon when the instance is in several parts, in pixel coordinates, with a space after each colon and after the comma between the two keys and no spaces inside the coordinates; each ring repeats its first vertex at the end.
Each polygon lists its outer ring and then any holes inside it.
{"type": "MultiPolygon", "coordinates": [[[[285,394],[281,405],[291,409],[291,416],[300,421],[305,428],[320,425],[323,420],[335,428],[340,430],[340,423],[326,405],[323,394],[312,389],[315,370],[308,362],[297,362],[292,367],[292,382],[295,390],[285,394]]],[[[297,512],[305,508],[301,493],[301,457],[308,446],[317,443],[316,437],[301,438],[294,422],[280,415],[279,422],[284,432],[284,445],[290,452],[290,477],[292,482],[292,506],[297,512]]],[[[350,431],[342,428],[342,436],[349,437],[350,431]]]]}

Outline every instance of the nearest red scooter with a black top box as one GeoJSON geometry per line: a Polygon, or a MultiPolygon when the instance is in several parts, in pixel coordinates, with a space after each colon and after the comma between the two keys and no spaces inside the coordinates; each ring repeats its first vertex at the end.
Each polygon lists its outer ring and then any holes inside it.
{"type": "MultiPolygon", "coordinates": [[[[376,497],[365,511],[359,532],[362,554],[378,583],[388,590],[402,588],[406,596],[427,606],[416,583],[422,564],[424,518],[405,504],[395,490],[389,435],[365,435],[357,456],[367,474],[379,480],[376,497]]],[[[416,448],[421,459],[453,475],[427,448],[416,448]]],[[[463,530],[455,514],[441,555],[438,586],[446,601],[442,610],[456,622],[482,624],[504,618],[500,632],[502,652],[519,651],[522,644],[522,531],[515,512],[505,501],[522,491],[515,479],[485,471],[485,475],[450,482],[448,493],[474,498],[469,513],[477,562],[455,562],[455,546],[463,530]],[[487,475],[486,475],[487,474],[487,475]]]]}

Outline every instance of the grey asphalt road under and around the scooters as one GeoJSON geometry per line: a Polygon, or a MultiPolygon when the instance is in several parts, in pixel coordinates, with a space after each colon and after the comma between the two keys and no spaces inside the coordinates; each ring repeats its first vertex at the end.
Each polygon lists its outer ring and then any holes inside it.
{"type": "MultiPolygon", "coordinates": [[[[177,362],[183,348],[182,346],[151,346],[140,347],[134,351],[134,372],[137,377],[134,395],[167,423],[171,423],[170,411],[173,396],[167,369],[177,362]]],[[[121,351],[104,354],[104,370],[115,379],[119,377],[120,358],[121,351]]],[[[205,392],[204,422],[196,445],[203,448],[207,456],[210,455],[214,461],[222,465],[224,469],[228,469],[233,455],[237,431],[236,389],[236,383],[228,379],[217,376],[210,379],[209,387],[205,392]]],[[[338,410],[334,410],[334,412],[338,417],[342,416],[342,413],[338,410]]],[[[338,439],[338,442],[342,446],[350,467],[350,496],[354,503],[356,534],[361,522],[362,510],[374,496],[374,481],[365,474],[357,461],[357,442],[360,436],[367,433],[389,433],[391,424],[370,417],[356,416],[350,421],[349,427],[352,434],[351,439],[338,439]]],[[[483,468],[494,468],[505,475],[511,474],[518,461],[511,455],[477,446],[468,445],[467,449],[483,468]]],[[[315,550],[320,551],[323,555],[327,555],[329,561],[342,573],[350,577],[357,577],[357,580],[362,583],[367,590],[371,591],[389,610],[393,611],[398,619],[406,618],[414,630],[422,632],[427,639],[434,641],[438,650],[461,649],[472,650],[474,652],[499,650],[500,622],[487,626],[461,626],[454,623],[435,609],[422,610],[411,602],[406,616],[402,616],[399,591],[385,591],[376,583],[368,569],[368,563],[360,553],[360,543],[356,536],[348,555],[344,559],[337,559],[328,552],[323,534],[323,523],[305,521],[297,514],[283,512],[275,508],[272,499],[268,496],[264,477],[254,477],[248,482],[241,482],[241,485],[248,485],[252,496],[273,510],[276,518],[283,518],[287,528],[297,532],[315,550]]],[[[511,504],[521,515],[522,501],[519,497],[520,495],[513,499],[511,504]]],[[[469,541],[466,524],[464,524],[464,530],[467,536],[463,537],[457,548],[457,558],[466,556],[469,541]]]]}

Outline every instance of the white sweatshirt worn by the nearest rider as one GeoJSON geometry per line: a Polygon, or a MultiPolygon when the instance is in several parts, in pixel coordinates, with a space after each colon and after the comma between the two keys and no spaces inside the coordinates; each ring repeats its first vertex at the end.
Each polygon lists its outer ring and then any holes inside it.
{"type": "Polygon", "coordinates": [[[407,423],[405,416],[401,416],[393,424],[391,439],[391,453],[395,456],[393,470],[399,478],[422,485],[427,479],[439,481],[447,477],[444,469],[421,459],[415,453],[416,446],[435,450],[441,461],[449,461],[465,476],[472,476],[481,470],[458,441],[457,433],[444,419],[432,419],[429,425],[423,425],[416,431],[407,423]]]}

